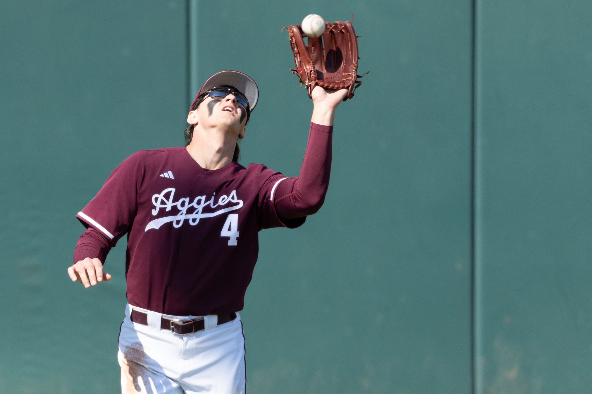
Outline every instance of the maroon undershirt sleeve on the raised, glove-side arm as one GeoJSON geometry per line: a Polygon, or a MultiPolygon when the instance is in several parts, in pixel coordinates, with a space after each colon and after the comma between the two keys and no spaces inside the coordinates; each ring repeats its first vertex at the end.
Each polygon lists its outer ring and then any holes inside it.
{"type": "Polygon", "coordinates": [[[321,208],[329,188],[333,126],[310,124],[300,176],[282,180],[275,192],[275,210],[281,219],[312,215],[321,208]]]}

